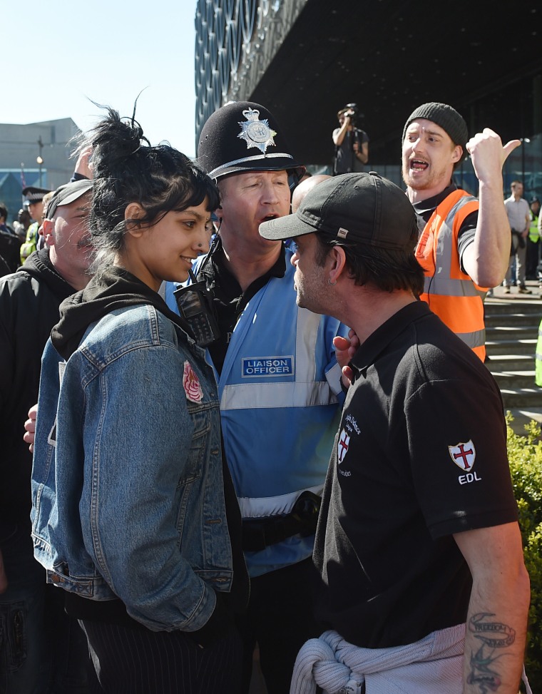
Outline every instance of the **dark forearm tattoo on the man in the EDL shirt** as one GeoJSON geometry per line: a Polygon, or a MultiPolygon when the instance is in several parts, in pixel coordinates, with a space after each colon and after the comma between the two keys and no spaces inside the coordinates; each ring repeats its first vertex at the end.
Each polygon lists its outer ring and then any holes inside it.
{"type": "Polygon", "coordinates": [[[471,653],[471,671],[466,681],[469,685],[477,686],[480,694],[496,692],[501,686],[501,668],[498,661],[506,655],[501,649],[516,641],[516,631],[511,626],[489,621],[489,618],[494,616],[488,612],[480,612],[469,620],[469,631],[474,634],[474,638],[481,641],[481,646],[479,650],[473,650],[471,653]]]}

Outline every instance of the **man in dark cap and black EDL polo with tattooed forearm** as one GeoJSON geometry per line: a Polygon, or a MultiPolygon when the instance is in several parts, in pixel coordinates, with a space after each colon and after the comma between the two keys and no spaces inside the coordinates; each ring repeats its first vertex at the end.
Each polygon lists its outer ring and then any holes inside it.
{"type": "Polygon", "coordinates": [[[359,341],[315,540],[331,631],[302,648],[291,692],[516,694],[530,596],[501,394],[418,300],[408,198],[339,175],[260,235],[295,240],[298,305],[359,341]]]}

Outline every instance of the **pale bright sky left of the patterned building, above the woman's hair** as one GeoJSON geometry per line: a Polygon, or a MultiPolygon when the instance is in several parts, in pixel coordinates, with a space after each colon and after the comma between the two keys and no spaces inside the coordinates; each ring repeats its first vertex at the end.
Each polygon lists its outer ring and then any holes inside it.
{"type": "MultiPolygon", "coordinates": [[[[2,7],[2,123],[131,116],[151,144],[195,154],[196,0],[9,0],[2,7]]],[[[1,166],[1,163],[0,163],[1,166]]]]}

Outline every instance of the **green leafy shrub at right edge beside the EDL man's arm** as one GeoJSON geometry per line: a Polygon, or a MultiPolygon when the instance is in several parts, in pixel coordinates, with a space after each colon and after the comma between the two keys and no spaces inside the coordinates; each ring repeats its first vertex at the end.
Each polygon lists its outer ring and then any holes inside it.
{"type": "MultiPolygon", "coordinates": [[[[506,416],[512,422],[510,412],[506,416]]],[[[540,424],[526,424],[526,433],[508,426],[508,460],[518,502],[525,565],[531,578],[531,608],[525,669],[533,692],[542,692],[542,441],[540,424]]]]}

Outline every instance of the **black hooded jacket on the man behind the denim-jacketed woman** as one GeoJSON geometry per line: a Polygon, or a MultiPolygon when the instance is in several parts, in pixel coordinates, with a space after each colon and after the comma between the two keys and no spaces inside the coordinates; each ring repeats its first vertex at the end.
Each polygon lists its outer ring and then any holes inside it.
{"type": "Polygon", "coordinates": [[[0,279],[0,547],[17,526],[30,531],[32,455],[24,422],[38,402],[41,354],[58,307],[73,292],[46,248],[0,279]]]}

